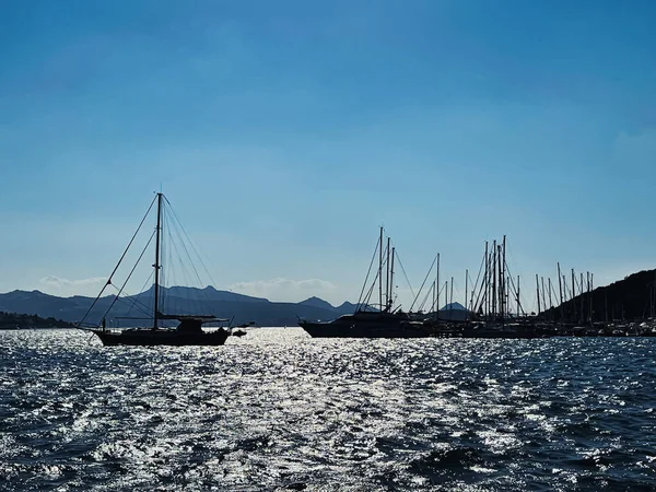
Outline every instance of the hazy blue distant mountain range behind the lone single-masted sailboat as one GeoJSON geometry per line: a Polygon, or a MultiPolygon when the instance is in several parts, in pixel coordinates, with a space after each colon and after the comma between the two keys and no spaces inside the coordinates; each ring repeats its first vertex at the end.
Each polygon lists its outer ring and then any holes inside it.
{"type": "MultiPolygon", "coordinates": [[[[161,288],[161,311],[165,314],[208,314],[229,318],[234,325],[254,321],[259,326],[290,326],[298,318],[330,320],[353,313],[355,306],[343,303],[333,307],[318,297],[302,303],[272,303],[266,298],[251,297],[235,292],[219,291],[213,286],[204,289],[173,286],[161,288]]],[[[154,290],[119,298],[106,319],[110,326],[147,326],[152,315],[154,290]],[[120,318],[144,319],[120,319],[120,318]]],[[[94,298],[85,296],[58,297],[39,291],[13,291],[0,294],[0,311],[30,313],[42,317],[55,317],[77,323],[85,315],[94,298]]],[[[114,295],[101,297],[87,317],[90,324],[98,324],[107,312],[114,295]]]]}

